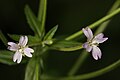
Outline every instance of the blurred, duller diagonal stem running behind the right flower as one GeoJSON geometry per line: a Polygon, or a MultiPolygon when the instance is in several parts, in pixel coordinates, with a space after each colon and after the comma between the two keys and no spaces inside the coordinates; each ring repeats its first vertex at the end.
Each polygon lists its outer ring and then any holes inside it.
{"type": "MultiPolygon", "coordinates": [[[[113,4],[112,8],[109,10],[109,12],[108,12],[107,14],[110,14],[112,11],[114,11],[116,8],[118,8],[119,5],[120,5],[119,3],[120,3],[120,1],[117,0],[117,1],[113,4]]],[[[97,22],[98,22],[98,21],[97,21],[97,22]]],[[[97,29],[97,31],[95,32],[95,34],[98,34],[98,33],[100,33],[100,32],[103,32],[103,31],[105,30],[105,28],[107,27],[107,25],[109,24],[109,22],[110,22],[110,20],[107,20],[107,21],[105,21],[104,23],[102,23],[102,24],[99,26],[99,28],[97,29]]],[[[96,22],[93,23],[93,24],[96,24],[96,22]]],[[[93,25],[93,24],[92,24],[92,25],[93,25]]],[[[82,32],[81,32],[81,33],[82,33],[82,32]]],[[[68,38],[68,39],[69,39],[69,38],[68,38]]],[[[85,61],[85,59],[87,58],[87,56],[88,56],[88,54],[87,54],[87,52],[85,52],[85,51],[83,51],[83,52],[80,54],[80,56],[79,56],[79,58],[77,59],[76,63],[73,65],[73,67],[72,67],[71,70],[69,71],[69,73],[68,73],[69,76],[74,75],[74,74],[76,73],[76,71],[77,71],[78,69],[80,69],[80,67],[82,66],[82,63],[85,61]]]]}

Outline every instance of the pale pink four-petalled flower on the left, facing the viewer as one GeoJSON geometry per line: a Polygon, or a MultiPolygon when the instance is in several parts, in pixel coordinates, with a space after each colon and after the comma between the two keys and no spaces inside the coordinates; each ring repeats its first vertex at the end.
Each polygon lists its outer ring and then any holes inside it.
{"type": "Polygon", "coordinates": [[[28,43],[28,37],[27,36],[21,36],[19,43],[16,44],[14,42],[8,42],[8,49],[11,51],[15,51],[15,54],[13,56],[13,61],[17,63],[20,63],[22,60],[22,56],[32,57],[32,54],[34,50],[32,48],[29,48],[26,46],[28,43]]]}

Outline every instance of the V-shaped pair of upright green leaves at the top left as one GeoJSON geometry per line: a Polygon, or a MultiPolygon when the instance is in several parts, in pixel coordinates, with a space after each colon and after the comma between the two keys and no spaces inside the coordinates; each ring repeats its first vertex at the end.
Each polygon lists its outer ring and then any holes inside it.
{"type": "Polygon", "coordinates": [[[35,35],[38,35],[42,40],[45,34],[45,20],[46,20],[46,6],[47,0],[40,0],[40,7],[38,11],[38,17],[32,12],[28,5],[25,6],[25,15],[30,28],[34,31],[35,35]]]}

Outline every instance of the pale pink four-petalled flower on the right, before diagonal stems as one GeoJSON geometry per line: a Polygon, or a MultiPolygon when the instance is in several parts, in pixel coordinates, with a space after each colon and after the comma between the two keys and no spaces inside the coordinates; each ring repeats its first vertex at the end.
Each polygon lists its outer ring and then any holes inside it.
{"type": "Polygon", "coordinates": [[[85,48],[87,52],[92,51],[92,56],[95,60],[100,59],[102,56],[102,53],[98,45],[99,43],[105,42],[108,38],[107,37],[103,38],[104,37],[103,33],[99,33],[94,37],[89,27],[83,28],[82,31],[84,35],[87,37],[87,42],[83,44],[83,48],[85,48]]]}

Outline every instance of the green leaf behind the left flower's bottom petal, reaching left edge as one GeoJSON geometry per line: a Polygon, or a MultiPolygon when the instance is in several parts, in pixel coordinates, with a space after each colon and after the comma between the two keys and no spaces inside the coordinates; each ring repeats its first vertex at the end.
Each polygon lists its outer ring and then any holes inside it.
{"type": "MultiPolygon", "coordinates": [[[[14,52],[1,50],[0,51],[0,63],[7,65],[16,65],[17,63],[13,62],[14,52]]],[[[23,59],[21,63],[26,63],[26,59],[23,59]]]]}

